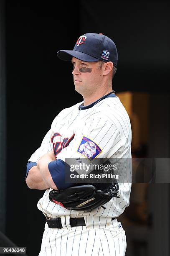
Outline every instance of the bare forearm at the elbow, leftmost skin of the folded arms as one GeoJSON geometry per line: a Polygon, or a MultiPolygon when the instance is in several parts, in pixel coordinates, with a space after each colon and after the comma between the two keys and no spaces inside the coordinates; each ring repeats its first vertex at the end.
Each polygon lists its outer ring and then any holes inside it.
{"type": "Polygon", "coordinates": [[[40,170],[38,169],[37,166],[33,166],[29,172],[28,176],[26,178],[26,184],[30,189],[48,189],[49,186],[46,184],[44,181],[40,170]]]}

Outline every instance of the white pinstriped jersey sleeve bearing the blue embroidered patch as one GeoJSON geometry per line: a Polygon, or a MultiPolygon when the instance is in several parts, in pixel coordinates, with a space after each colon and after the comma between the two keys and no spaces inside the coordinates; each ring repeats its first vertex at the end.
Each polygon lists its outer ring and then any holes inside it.
{"type": "Polygon", "coordinates": [[[119,129],[107,117],[91,116],[77,125],[74,140],[63,148],[58,159],[81,158],[91,162],[97,158],[110,158],[124,145],[119,129]]]}

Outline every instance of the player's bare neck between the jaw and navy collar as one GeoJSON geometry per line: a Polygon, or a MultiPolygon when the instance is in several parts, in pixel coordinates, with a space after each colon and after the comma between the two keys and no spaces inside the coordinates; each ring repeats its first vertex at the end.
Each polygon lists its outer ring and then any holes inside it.
{"type": "Polygon", "coordinates": [[[112,92],[112,87],[109,87],[107,89],[105,88],[105,90],[97,91],[91,95],[82,95],[84,98],[84,106],[90,105],[104,95],[107,95],[109,92],[112,92]]]}

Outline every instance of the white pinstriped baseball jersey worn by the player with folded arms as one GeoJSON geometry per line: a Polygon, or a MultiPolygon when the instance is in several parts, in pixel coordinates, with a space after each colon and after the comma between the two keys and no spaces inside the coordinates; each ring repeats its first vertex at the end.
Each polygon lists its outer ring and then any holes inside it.
{"type": "MultiPolygon", "coordinates": [[[[132,177],[131,125],[127,111],[119,98],[107,97],[91,108],[79,110],[81,103],[66,108],[57,115],[40,148],[28,161],[37,162],[43,154],[53,150],[53,147],[56,147],[57,159],[65,161],[67,158],[84,158],[86,160],[86,156],[78,152],[82,138],[85,136],[101,149],[97,158],[127,159],[123,168],[124,177],[132,177]],[[64,143],[70,138],[73,139],[70,140],[69,146],[64,147],[64,143]]],[[[49,200],[48,194],[51,189],[47,189],[38,201],[38,209],[51,218],[65,215],[70,215],[71,218],[76,216],[91,216],[91,218],[95,216],[99,219],[100,217],[118,217],[129,205],[131,183],[126,182],[125,178],[124,181],[119,184],[119,198],[113,197],[107,202],[104,205],[105,210],[102,207],[90,212],[67,210],[49,200]]]]}

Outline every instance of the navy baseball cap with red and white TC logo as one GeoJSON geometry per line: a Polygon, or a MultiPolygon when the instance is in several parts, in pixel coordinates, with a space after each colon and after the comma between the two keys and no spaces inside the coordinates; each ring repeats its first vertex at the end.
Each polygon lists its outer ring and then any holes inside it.
{"type": "Polygon", "coordinates": [[[82,61],[112,61],[117,67],[117,48],[114,41],[103,34],[86,33],[76,41],[73,50],[60,50],[57,52],[59,59],[71,61],[72,57],[82,61]]]}

